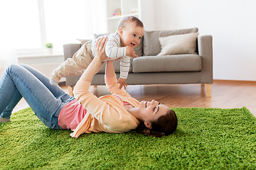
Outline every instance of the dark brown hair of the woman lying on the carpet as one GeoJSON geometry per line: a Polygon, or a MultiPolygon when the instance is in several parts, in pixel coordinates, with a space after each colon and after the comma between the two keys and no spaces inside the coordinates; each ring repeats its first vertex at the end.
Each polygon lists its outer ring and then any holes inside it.
{"type": "Polygon", "coordinates": [[[173,133],[178,125],[178,119],[174,110],[169,110],[166,115],[161,115],[156,121],[152,122],[152,128],[146,128],[144,123],[140,123],[137,132],[144,135],[151,135],[154,137],[161,137],[163,135],[170,135],[173,133]]]}

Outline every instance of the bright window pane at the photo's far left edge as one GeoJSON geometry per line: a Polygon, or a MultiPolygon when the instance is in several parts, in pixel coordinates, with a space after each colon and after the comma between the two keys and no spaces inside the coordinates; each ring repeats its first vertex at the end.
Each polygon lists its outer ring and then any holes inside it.
{"type": "Polygon", "coordinates": [[[15,49],[41,47],[38,1],[1,1],[0,15],[4,26],[1,38],[13,42],[6,45],[15,49]]]}

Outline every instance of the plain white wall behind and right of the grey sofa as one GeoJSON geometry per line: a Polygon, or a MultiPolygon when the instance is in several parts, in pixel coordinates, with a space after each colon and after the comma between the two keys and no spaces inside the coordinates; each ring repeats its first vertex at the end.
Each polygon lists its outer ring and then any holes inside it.
{"type": "Polygon", "coordinates": [[[156,30],[213,35],[213,79],[256,81],[256,1],[157,0],[156,30]]]}

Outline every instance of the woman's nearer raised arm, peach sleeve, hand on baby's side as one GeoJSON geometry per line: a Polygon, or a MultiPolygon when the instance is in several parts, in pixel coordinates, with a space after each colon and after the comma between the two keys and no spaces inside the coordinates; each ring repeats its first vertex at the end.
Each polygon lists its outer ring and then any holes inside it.
{"type": "MultiPolygon", "coordinates": [[[[97,96],[89,91],[91,81],[98,72],[100,64],[108,58],[107,55],[105,55],[106,41],[107,38],[101,38],[100,41],[97,42],[95,58],[82,74],[82,77],[78,80],[73,93],[75,98],[87,110],[87,113],[90,113],[90,115],[96,118],[100,123],[106,126],[112,126],[113,121],[116,120],[115,118],[119,118],[119,113],[117,113],[117,111],[115,111],[109,104],[100,100],[100,98],[97,98],[97,96]]],[[[82,126],[83,123],[85,123],[84,119],[79,125],[82,126]]]]}

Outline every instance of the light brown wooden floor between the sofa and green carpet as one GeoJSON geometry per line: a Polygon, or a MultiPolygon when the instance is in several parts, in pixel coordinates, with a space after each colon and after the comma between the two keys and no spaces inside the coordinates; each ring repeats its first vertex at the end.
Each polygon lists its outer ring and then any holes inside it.
{"type": "MultiPolygon", "coordinates": [[[[67,86],[61,86],[68,92],[67,86]]],[[[215,80],[211,86],[212,97],[206,98],[205,87],[201,84],[183,85],[129,85],[127,91],[139,101],[152,99],[171,108],[241,108],[245,106],[256,117],[256,81],[215,80]]],[[[96,96],[109,94],[105,86],[91,86],[96,96]]],[[[14,111],[27,108],[23,99],[14,111]]]]}

